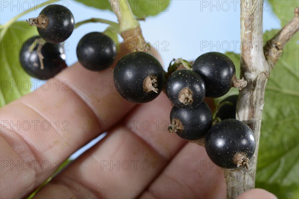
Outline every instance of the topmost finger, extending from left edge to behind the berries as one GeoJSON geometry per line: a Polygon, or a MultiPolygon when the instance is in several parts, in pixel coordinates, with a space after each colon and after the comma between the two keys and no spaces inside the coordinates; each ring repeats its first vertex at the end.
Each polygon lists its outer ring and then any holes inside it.
{"type": "Polygon", "coordinates": [[[1,197],[28,194],[70,154],[108,129],[106,121],[114,125],[127,114],[134,104],[123,100],[112,82],[110,69],[97,73],[75,64],[47,87],[1,108],[5,144],[0,150],[7,154],[1,155],[7,163],[5,168],[1,164],[1,197]]]}

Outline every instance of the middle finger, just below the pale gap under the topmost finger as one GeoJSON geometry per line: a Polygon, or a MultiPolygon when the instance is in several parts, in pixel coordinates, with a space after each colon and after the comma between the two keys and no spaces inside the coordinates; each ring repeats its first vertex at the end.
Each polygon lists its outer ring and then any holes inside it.
{"type": "Polygon", "coordinates": [[[64,185],[77,198],[138,197],[185,144],[163,129],[170,109],[164,94],[139,105],[126,118],[129,129],[123,125],[112,129],[51,183],[64,185]]]}

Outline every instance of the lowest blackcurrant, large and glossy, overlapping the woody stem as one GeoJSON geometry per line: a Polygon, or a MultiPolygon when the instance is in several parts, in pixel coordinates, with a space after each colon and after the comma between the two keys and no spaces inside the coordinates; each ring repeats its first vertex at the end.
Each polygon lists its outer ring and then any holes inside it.
{"type": "Polygon", "coordinates": [[[206,135],[206,152],[219,167],[234,169],[249,167],[256,142],[252,130],[236,119],[216,123],[206,135]]]}

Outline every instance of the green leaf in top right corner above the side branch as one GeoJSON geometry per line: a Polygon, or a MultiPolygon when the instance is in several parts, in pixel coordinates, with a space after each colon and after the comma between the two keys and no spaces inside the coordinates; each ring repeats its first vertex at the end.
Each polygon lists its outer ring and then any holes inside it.
{"type": "Polygon", "coordinates": [[[269,0],[274,13],[286,25],[294,16],[294,9],[299,6],[298,0],[269,0]]]}

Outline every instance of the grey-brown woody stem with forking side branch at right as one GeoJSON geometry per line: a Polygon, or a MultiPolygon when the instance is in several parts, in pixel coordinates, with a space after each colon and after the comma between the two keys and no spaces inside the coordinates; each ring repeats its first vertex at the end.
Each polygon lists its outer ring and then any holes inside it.
{"type": "Polygon", "coordinates": [[[256,163],[261,133],[265,86],[274,65],[285,44],[299,29],[299,8],[295,17],[282,28],[263,49],[263,3],[264,0],[241,0],[241,77],[247,87],[240,91],[236,118],[247,123],[256,138],[256,151],[250,160],[250,168],[245,170],[225,170],[227,198],[235,199],[240,194],[255,187],[256,163]],[[246,6],[244,6],[246,5],[246,6]]]}

